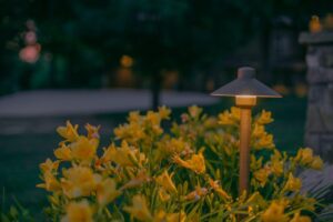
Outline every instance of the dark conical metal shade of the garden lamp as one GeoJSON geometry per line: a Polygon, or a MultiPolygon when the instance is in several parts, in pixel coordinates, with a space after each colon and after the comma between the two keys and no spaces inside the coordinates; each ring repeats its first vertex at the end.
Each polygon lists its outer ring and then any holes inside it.
{"type": "Polygon", "coordinates": [[[281,98],[278,92],[255,79],[255,70],[251,67],[240,68],[238,70],[238,79],[218,89],[212,93],[212,95],[255,95],[260,98],[281,98]]]}

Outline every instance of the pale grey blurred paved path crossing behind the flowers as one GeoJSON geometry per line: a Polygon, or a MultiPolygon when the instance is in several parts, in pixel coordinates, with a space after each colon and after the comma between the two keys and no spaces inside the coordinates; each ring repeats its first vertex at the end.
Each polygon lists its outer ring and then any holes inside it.
{"type": "MultiPolygon", "coordinates": [[[[163,91],[168,107],[208,105],[218,100],[198,92],[163,91]]],[[[148,90],[41,90],[0,98],[0,118],[84,115],[150,109],[148,90]]]]}

